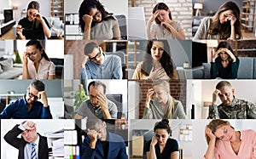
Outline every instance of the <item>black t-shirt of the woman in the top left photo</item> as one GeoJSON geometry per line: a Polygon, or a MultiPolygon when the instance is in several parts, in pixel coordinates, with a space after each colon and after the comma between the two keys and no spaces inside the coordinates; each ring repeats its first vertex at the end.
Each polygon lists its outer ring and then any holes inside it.
{"type": "MultiPolygon", "coordinates": [[[[43,17],[46,25],[49,27],[48,21],[43,17]]],[[[20,26],[22,26],[23,31],[22,34],[23,36],[26,37],[26,39],[38,39],[38,40],[44,40],[44,28],[41,23],[36,25],[38,23],[38,20],[35,19],[33,21],[29,21],[28,18],[23,18],[19,21],[20,26]]],[[[50,29],[50,27],[49,27],[50,29]]]]}

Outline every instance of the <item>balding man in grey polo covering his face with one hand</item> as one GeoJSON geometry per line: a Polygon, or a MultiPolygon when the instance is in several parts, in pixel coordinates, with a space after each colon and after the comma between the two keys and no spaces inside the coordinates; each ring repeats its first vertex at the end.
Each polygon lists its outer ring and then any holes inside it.
{"type": "Polygon", "coordinates": [[[88,85],[90,99],[85,100],[77,110],[75,119],[88,118],[112,119],[117,117],[117,106],[106,97],[106,85],[99,81],[88,85]]]}

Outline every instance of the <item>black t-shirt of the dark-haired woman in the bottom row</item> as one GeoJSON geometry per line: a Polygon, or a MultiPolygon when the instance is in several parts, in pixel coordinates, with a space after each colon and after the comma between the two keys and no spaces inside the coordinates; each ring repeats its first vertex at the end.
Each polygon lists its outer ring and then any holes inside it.
{"type": "MultiPolygon", "coordinates": [[[[146,144],[146,152],[150,151],[151,139],[146,144]]],[[[166,141],[166,147],[160,154],[160,147],[158,144],[154,145],[155,155],[157,159],[171,158],[171,153],[178,151],[178,144],[176,139],[169,138],[166,141]]]]}

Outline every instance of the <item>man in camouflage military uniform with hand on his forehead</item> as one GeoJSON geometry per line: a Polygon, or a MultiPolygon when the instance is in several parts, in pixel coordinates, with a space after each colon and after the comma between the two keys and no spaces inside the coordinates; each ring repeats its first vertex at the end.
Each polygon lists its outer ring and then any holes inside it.
{"type": "Polygon", "coordinates": [[[230,82],[218,82],[209,107],[210,119],[256,119],[256,106],[245,99],[236,99],[230,82]],[[217,105],[218,97],[222,104],[217,105]]]}

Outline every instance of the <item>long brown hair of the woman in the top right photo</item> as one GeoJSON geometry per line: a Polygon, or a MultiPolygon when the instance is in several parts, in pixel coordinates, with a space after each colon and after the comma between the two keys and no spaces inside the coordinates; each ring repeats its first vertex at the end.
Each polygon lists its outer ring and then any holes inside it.
{"type": "Polygon", "coordinates": [[[237,7],[236,3],[227,2],[222,4],[217,13],[213,16],[213,20],[211,26],[209,28],[208,34],[217,35],[219,34],[220,39],[228,39],[230,37],[231,26],[229,22],[225,22],[224,24],[220,24],[219,22],[219,14],[226,10],[232,10],[233,14],[236,16],[235,22],[235,32],[238,39],[241,38],[241,22],[240,22],[240,9],[237,7]]]}

